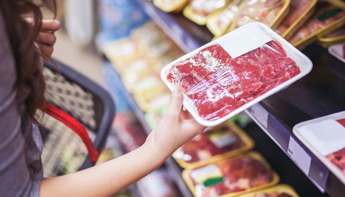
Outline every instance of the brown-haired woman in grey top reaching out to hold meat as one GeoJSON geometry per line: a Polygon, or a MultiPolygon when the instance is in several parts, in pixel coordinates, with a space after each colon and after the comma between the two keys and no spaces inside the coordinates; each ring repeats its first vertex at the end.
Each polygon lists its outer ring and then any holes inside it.
{"type": "Polygon", "coordinates": [[[182,93],[176,89],[166,115],[137,150],[83,171],[43,179],[35,111],[44,105],[42,56],[49,59],[60,24],[42,21],[32,1],[0,1],[1,197],[111,196],[159,167],[205,129],[181,111],[182,93]],[[22,18],[28,15],[33,19],[22,18]]]}

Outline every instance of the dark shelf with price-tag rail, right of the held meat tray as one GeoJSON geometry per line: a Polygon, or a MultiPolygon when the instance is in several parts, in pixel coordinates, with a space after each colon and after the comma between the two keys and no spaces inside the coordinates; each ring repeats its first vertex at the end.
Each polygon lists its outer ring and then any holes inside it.
{"type": "Polygon", "coordinates": [[[249,108],[247,113],[316,187],[332,197],[341,197],[345,194],[345,186],[296,138],[292,128],[300,122],[345,110],[345,64],[317,45],[302,52],[313,62],[311,73],[249,108]],[[291,154],[293,142],[299,146],[300,152],[306,153],[306,157],[296,158],[291,154]],[[311,163],[306,171],[301,166],[308,157],[311,163]]]}

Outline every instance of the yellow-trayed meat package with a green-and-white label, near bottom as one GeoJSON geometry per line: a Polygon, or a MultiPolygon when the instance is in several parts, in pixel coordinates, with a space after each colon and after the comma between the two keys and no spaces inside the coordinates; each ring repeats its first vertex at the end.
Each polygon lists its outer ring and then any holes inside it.
{"type": "Polygon", "coordinates": [[[182,177],[195,197],[235,197],[279,181],[276,172],[257,152],[186,169],[182,177]]]}

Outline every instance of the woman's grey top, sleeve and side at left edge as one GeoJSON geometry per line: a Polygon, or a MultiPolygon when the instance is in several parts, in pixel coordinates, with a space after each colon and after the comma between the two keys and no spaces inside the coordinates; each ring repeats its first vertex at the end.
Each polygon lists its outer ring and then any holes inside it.
{"type": "Polygon", "coordinates": [[[15,60],[0,11],[0,196],[38,197],[43,177],[42,139],[25,114],[30,88],[16,86],[15,60]]]}

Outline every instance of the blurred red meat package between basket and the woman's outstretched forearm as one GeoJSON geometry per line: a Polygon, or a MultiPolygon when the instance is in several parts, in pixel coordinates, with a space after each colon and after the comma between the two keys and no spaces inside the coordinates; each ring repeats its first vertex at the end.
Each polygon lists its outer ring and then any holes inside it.
{"type": "Polygon", "coordinates": [[[132,112],[117,114],[113,129],[126,152],[131,152],[144,144],[146,133],[132,112]]]}

